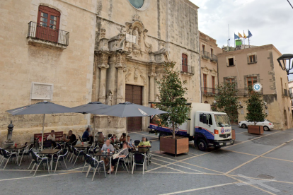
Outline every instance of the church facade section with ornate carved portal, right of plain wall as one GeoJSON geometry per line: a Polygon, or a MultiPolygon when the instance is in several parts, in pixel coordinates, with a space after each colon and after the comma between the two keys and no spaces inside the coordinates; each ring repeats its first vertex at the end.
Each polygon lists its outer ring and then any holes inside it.
{"type": "MultiPolygon", "coordinates": [[[[108,105],[159,101],[156,80],[164,61],[176,61],[188,81],[188,102],[200,102],[197,6],[190,1],[98,1],[92,100],[108,105]],[[183,57],[187,57],[183,62],[183,57]],[[183,64],[184,63],[184,64],[183,64]],[[185,65],[183,67],[183,65],[185,65]]],[[[129,131],[146,130],[149,118],[129,118],[129,131]]],[[[125,119],[98,116],[98,131],[120,134],[125,119]]]]}

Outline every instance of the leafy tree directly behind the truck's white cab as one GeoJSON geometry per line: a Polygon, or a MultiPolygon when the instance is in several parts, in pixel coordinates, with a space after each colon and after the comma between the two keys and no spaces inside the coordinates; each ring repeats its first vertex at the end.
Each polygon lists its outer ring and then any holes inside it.
{"type": "Polygon", "coordinates": [[[226,112],[231,122],[237,122],[239,116],[239,101],[238,101],[238,89],[236,88],[236,83],[224,82],[222,85],[218,86],[218,91],[214,100],[216,104],[213,110],[218,112],[226,112]]]}

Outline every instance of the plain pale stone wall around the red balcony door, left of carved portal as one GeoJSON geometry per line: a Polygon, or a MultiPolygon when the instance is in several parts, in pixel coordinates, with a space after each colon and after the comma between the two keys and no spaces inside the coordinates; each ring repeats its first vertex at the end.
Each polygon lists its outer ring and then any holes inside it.
{"type": "MultiPolygon", "coordinates": [[[[96,28],[94,0],[11,0],[0,2],[0,143],[13,121],[13,140],[40,133],[42,115],[11,116],[5,110],[34,104],[32,82],[52,83],[52,102],[74,107],[91,102],[93,49],[96,28]],[[38,6],[49,6],[61,13],[60,30],[69,32],[66,49],[28,42],[28,23],[37,22],[38,6]]],[[[84,129],[88,116],[83,114],[47,114],[46,131],[84,129]]]]}

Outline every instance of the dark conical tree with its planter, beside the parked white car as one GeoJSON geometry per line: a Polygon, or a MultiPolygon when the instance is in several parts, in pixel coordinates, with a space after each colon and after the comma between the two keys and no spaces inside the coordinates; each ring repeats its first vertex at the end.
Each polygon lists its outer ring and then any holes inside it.
{"type": "Polygon", "coordinates": [[[254,125],[248,125],[248,134],[263,134],[263,126],[256,125],[257,122],[263,122],[267,114],[265,114],[263,107],[262,95],[258,92],[248,88],[248,100],[246,101],[247,105],[247,114],[246,121],[253,122],[254,125]]]}

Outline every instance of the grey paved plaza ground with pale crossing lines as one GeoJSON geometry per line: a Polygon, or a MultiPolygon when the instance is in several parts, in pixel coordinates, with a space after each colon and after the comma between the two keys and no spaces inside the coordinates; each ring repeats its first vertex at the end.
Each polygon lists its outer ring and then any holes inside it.
{"type": "Polygon", "coordinates": [[[28,165],[8,163],[0,168],[0,194],[293,194],[293,129],[247,134],[236,129],[236,143],[202,152],[190,142],[187,155],[160,153],[158,136],[132,133],[132,140],[147,136],[152,141],[152,162],[142,175],[142,166],[132,175],[122,167],[117,175],[96,174],[86,178],[83,162],[56,174],[40,170],[33,177],[28,165]]]}

